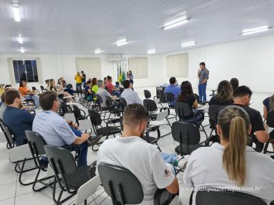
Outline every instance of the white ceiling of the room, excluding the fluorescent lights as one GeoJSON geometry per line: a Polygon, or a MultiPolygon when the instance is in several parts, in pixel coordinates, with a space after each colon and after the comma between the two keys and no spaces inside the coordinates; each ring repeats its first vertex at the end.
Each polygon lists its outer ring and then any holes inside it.
{"type": "Polygon", "coordinates": [[[242,29],[274,26],[273,0],[18,0],[21,21],[14,20],[12,0],[0,0],[0,53],[146,54],[181,51],[274,34],[274,29],[241,36],[242,29]],[[164,23],[191,18],[164,30],[164,23]],[[23,44],[18,43],[22,35],[23,44]],[[116,46],[127,38],[128,44],[116,46]],[[188,49],[186,48],[186,49],[188,49]]]}

